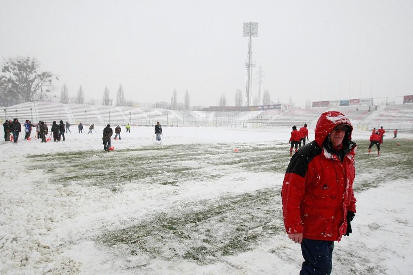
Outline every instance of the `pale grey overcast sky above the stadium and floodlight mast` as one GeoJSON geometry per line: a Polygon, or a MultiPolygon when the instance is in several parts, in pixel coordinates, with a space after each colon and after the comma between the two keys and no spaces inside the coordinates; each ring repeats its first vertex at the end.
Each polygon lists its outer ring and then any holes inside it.
{"type": "MultiPolygon", "coordinates": [[[[0,0],[0,58],[30,56],[59,76],[55,93],[82,85],[86,98],[215,106],[222,93],[245,105],[248,38],[252,95],[263,71],[271,101],[413,94],[412,0],[0,0]],[[341,88],[340,88],[341,87],[341,88]]],[[[390,100],[390,99],[389,99],[390,100]]],[[[397,98],[398,100],[398,98],[397,98]]]]}

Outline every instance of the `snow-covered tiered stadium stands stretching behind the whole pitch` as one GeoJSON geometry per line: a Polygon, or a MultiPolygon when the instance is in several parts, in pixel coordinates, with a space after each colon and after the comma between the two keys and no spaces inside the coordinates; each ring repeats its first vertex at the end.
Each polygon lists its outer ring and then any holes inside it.
{"type": "Polygon", "coordinates": [[[0,121],[18,118],[20,122],[29,119],[32,123],[60,120],[83,125],[155,125],[163,126],[210,126],[210,127],[271,127],[286,128],[315,123],[319,115],[327,110],[338,110],[347,115],[354,127],[371,130],[383,126],[386,130],[413,131],[413,104],[380,105],[378,109],[369,106],[339,106],[268,109],[250,112],[217,111],[175,111],[150,107],[114,107],[88,104],[62,104],[57,102],[27,102],[10,107],[0,107],[0,121]]]}

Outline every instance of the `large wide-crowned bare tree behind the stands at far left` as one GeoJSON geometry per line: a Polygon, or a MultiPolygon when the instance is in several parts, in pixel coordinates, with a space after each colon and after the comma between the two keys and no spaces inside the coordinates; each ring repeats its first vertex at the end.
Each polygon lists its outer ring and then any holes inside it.
{"type": "Polygon", "coordinates": [[[1,69],[3,74],[0,75],[0,80],[16,99],[42,100],[43,97],[47,98],[53,88],[52,78],[58,78],[50,72],[40,72],[39,69],[40,63],[35,58],[9,58],[1,69]]]}

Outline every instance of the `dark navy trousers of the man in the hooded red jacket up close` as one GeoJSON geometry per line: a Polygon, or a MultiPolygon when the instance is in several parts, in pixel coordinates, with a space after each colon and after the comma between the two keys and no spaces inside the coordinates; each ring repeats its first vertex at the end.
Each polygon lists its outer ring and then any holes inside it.
{"type": "Polygon", "coordinates": [[[304,261],[300,275],[330,275],[333,269],[332,241],[302,239],[301,252],[304,261]]]}

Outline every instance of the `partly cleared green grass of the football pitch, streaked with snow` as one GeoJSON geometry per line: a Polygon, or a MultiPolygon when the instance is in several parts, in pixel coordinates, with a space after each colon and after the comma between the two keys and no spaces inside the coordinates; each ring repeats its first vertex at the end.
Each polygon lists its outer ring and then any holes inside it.
{"type": "MultiPolygon", "coordinates": [[[[388,180],[412,177],[411,139],[385,139],[380,156],[375,146],[367,154],[368,141],[354,141],[356,197],[388,180]]],[[[92,241],[124,262],[119,268],[135,272],[154,259],[203,266],[225,263],[225,256],[251,251],[265,240],[286,238],[280,191],[289,145],[254,142],[238,143],[237,148],[234,152],[234,144],[203,143],[32,155],[29,169],[44,169],[49,183],[107,189],[111,199],[134,194],[129,199],[142,205],[139,214],[124,209],[120,212],[129,218],[77,234],[72,242],[92,241]],[[204,196],[223,185],[233,187],[204,196]],[[231,188],[240,190],[229,192],[231,188]]],[[[123,207],[122,201],[113,204],[123,207]]],[[[288,258],[277,250],[272,253],[288,258]]],[[[367,272],[371,262],[364,261],[359,271],[367,272]]]]}

